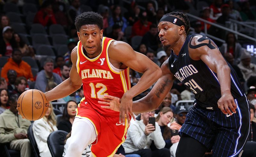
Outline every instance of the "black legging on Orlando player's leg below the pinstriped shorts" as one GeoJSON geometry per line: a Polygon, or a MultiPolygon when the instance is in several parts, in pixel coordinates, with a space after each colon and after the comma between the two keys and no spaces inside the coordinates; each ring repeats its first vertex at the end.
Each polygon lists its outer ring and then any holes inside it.
{"type": "Polygon", "coordinates": [[[206,146],[197,141],[195,138],[182,133],[176,150],[176,157],[202,157],[206,151],[206,146]]]}

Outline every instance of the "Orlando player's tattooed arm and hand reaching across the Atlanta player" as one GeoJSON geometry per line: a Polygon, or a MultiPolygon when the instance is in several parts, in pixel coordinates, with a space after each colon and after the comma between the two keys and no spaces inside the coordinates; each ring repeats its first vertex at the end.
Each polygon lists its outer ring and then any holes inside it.
{"type": "MultiPolygon", "coordinates": [[[[174,75],[169,70],[168,59],[161,66],[163,76],[158,79],[153,89],[143,98],[133,101],[132,111],[137,113],[153,111],[161,104],[168,92],[170,92],[174,80],[174,75]]],[[[105,98],[99,98],[100,104],[108,105],[101,106],[115,111],[119,111],[121,100],[117,97],[105,95],[105,98]]]]}

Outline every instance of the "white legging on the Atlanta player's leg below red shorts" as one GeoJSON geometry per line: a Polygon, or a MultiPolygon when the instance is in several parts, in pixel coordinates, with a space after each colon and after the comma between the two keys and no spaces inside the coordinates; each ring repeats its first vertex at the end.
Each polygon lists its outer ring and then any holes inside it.
{"type": "Polygon", "coordinates": [[[75,118],[72,125],[70,144],[65,156],[81,157],[84,149],[94,142],[96,133],[92,123],[84,118],[75,118]]]}

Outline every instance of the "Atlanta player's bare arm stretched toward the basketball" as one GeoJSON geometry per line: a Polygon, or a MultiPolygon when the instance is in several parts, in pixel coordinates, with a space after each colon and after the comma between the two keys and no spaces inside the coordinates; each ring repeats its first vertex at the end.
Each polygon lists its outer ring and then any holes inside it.
{"type": "Polygon", "coordinates": [[[48,101],[54,101],[74,93],[77,89],[82,86],[82,79],[77,73],[76,69],[77,60],[77,47],[75,47],[71,52],[72,67],[69,73],[69,78],[61,82],[58,86],[46,92],[46,98],[48,101]]]}

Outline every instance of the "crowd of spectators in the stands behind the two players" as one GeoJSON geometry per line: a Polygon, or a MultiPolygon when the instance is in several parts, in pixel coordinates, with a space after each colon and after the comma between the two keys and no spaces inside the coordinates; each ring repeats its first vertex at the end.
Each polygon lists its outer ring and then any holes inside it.
{"type": "MultiPolygon", "coordinates": [[[[20,151],[21,156],[30,156],[31,145],[27,135],[30,122],[17,114],[17,99],[27,89],[46,92],[68,79],[72,64],[70,54],[78,41],[75,18],[84,11],[95,11],[102,15],[104,36],[129,43],[134,50],[146,55],[159,66],[171,55],[171,51],[161,49],[158,37],[157,25],[165,13],[196,11],[198,17],[222,26],[230,19],[256,22],[256,3],[253,0],[156,2],[158,7],[155,1],[150,0],[138,3],[132,1],[131,4],[116,0],[34,0],[34,3],[24,3],[23,0],[0,1],[0,143],[9,143],[10,149],[20,151]],[[28,7],[29,10],[26,9],[28,7]],[[35,29],[35,26],[42,29],[35,29]],[[42,46],[51,52],[42,49],[42,46]]],[[[251,103],[252,128],[248,137],[251,143],[245,147],[251,149],[256,143],[256,64],[252,61],[252,55],[242,47],[234,33],[223,32],[210,24],[206,24],[205,28],[203,21],[195,19],[191,19],[190,25],[193,29],[189,34],[205,35],[204,29],[207,29],[209,34],[225,41],[216,41],[216,44],[236,71],[251,103]]],[[[139,72],[130,69],[132,86],[136,85],[140,77],[139,72]]],[[[145,96],[150,89],[134,100],[145,96]]],[[[84,97],[83,92],[81,87],[75,93],[57,100],[65,103],[64,108],[59,108],[63,110],[59,119],[55,118],[53,105],[50,105],[46,115],[34,122],[34,137],[41,156],[51,156],[47,137],[56,130],[69,133],[65,140],[65,155],[77,103],[84,97]]],[[[180,139],[177,130],[184,123],[191,107],[176,106],[179,100],[194,98],[189,89],[175,80],[173,89],[157,110],[135,113],[137,120],[131,123],[127,139],[115,156],[175,156],[180,139]],[[155,127],[148,124],[149,117],[156,117],[155,127]]],[[[82,156],[89,156],[90,152],[91,146],[88,146],[82,156]]]]}

